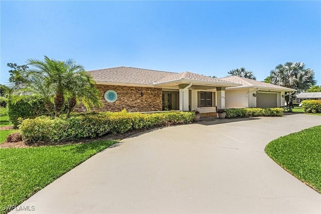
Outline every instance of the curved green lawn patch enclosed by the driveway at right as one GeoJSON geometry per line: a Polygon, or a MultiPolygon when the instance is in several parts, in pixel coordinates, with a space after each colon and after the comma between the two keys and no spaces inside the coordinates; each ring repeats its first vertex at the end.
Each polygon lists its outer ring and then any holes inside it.
{"type": "Polygon", "coordinates": [[[271,141],[266,154],[296,178],[321,192],[321,126],[271,141]]]}

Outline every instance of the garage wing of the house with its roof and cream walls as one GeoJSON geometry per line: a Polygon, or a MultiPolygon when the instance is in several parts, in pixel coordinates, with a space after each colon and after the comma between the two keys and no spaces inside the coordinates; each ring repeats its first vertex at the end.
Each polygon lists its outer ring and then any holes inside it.
{"type": "MultiPolygon", "coordinates": [[[[285,92],[294,89],[239,76],[219,78],[241,84],[227,87],[225,91],[225,108],[284,108],[285,92]]],[[[289,93],[288,93],[289,94],[289,93]]]]}

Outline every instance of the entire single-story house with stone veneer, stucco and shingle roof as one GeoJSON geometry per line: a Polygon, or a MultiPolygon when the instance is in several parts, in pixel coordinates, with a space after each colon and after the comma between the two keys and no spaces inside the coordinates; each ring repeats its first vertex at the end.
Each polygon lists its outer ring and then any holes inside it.
{"type": "MultiPolygon", "coordinates": [[[[283,107],[285,92],[294,91],[242,77],[212,78],[132,67],[88,71],[101,92],[103,111],[164,110],[215,113],[217,109],[283,107]]],[[[75,111],[84,111],[78,106],[75,111]]]]}

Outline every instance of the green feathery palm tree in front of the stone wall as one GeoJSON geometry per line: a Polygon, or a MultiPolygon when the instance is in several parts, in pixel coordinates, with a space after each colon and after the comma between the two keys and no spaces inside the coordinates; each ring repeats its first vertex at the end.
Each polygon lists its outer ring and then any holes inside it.
{"type": "Polygon", "coordinates": [[[52,116],[60,116],[65,100],[68,100],[68,117],[77,101],[87,109],[102,105],[95,81],[74,60],[58,61],[45,56],[44,61],[28,59],[27,62],[32,68],[25,71],[22,83],[13,90],[16,93],[25,91],[39,94],[52,116]]]}

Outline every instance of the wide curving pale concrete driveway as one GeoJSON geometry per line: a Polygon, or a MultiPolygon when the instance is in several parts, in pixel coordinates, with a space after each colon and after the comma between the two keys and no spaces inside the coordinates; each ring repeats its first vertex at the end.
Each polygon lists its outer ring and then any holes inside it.
{"type": "Polygon", "coordinates": [[[321,117],[224,122],[124,139],[21,205],[34,206],[26,213],[321,213],[321,195],[264,153],[321,117]]]}

